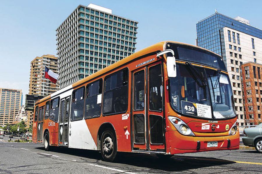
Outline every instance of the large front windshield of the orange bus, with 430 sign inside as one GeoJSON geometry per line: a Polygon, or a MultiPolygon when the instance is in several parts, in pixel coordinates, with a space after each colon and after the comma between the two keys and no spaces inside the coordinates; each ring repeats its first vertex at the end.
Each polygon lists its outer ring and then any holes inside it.
{"type": "Polygon", "coordinates": [[[169,78],[170,104],[174,110],[208,119],[235,116],[228,75],[191,64],[176,67],[177,76],[169,78]]]}

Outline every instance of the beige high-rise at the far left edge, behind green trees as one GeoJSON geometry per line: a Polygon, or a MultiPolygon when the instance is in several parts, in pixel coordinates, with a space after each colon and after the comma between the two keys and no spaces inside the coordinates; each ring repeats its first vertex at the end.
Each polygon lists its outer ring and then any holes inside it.
{"type": "Polygon", "coordinates": [[[0,126],[15,121],[22,100],[22,90],[0,88],[0,126]]]}

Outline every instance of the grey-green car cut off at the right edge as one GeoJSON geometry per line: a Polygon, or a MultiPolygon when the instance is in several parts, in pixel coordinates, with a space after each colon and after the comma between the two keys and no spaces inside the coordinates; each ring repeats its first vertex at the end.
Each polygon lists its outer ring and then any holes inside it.
{"type": "Polygon", "coordinates": [[[243,133],[244,145],[255,147],[259,153],[262,153],[262,123],[253,128],[245,128],[243,133]]]}

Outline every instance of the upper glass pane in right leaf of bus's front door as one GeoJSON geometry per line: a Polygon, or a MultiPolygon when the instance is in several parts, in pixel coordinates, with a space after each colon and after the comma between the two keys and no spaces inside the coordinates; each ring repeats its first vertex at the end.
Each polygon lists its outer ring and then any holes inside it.
{"type": "Polygon", "coordinates": [[[162,111],[162,73],[161,65],[149,68],[149,109],[162,111]]]}

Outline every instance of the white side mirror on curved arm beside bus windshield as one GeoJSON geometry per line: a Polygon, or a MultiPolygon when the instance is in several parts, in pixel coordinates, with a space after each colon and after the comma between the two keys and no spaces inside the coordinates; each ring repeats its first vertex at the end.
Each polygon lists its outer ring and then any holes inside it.
{"type": "Polygon", "coordinates": [[[171,53],[172,56],[167,56],[167,76],[176,77],[176,58],[175,53],[171,49],[167,49],[157,53],[157,57],[160,57],[164,54],[171,53]]]}

